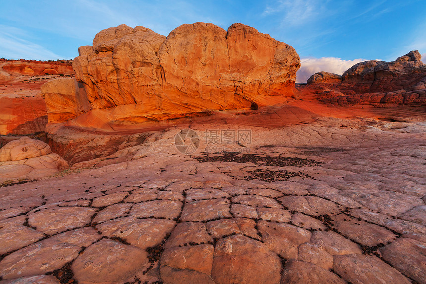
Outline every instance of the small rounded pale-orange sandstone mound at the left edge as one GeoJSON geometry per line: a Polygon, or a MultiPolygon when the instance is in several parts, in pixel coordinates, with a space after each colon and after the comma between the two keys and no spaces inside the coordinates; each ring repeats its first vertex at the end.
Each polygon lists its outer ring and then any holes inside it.
{"type": "Polygon", "coordinates": [[[14,178],[40,178],[68,167],[46,143],[28,137],[0,148],[0,181],[14,178]]]}

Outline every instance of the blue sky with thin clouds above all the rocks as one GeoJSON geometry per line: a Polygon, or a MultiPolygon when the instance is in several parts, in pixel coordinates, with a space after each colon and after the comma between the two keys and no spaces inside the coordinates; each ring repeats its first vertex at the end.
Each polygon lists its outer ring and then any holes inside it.
{"type": "Polygon", "coordinates": [[[340,72],[413,49],[426,56],[425,15],[426,0],[4,0],[0,57],[73,59],[97,32],[120,24],[168,35],[184,23],[241,22],[292,45],[311,71],[340,72]]]}

